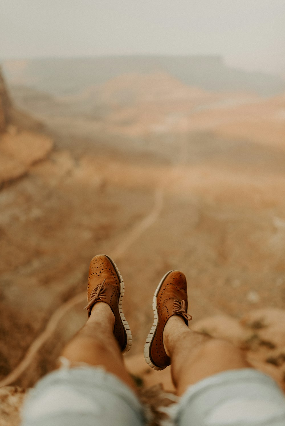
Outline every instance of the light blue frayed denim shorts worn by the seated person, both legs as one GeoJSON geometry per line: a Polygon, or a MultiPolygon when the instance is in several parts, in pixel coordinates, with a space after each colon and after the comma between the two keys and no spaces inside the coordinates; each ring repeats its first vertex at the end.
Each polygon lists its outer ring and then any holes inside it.
{"type": "MultiPolygon", "coordinates": [[[[285,426],[284,394],[269,376],[252,368],[207,377],[171,407],[168,425],[285,426]]],[[[144,424],[136,394],[100,367],[60,368],[47,374],[30,391],[23,408],[22,426],[144,424]]]]}

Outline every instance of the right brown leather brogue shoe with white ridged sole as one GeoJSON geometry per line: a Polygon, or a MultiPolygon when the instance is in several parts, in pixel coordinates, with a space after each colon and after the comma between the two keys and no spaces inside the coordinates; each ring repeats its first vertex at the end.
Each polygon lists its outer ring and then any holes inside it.
{"type": "Polygon", "coordinates": [[[167,320],[173,315],[183,317],[185,324],[192,320],[187,314],[187,282],[179,271],[167,272],[160,281],[152,302],[154,323],[145,341],[146,363],[154,370],[163,370],[171,361],[163,346],[163,330],[167,320]]]}

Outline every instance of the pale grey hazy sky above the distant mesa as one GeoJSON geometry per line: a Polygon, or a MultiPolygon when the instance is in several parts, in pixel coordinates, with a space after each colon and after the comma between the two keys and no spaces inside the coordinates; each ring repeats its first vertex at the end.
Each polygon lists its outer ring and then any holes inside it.
{"type": "Polygon", "coordinates": [[[0,59],[140,53],[285,75],[285,0],[0,1],[0,59]]]}

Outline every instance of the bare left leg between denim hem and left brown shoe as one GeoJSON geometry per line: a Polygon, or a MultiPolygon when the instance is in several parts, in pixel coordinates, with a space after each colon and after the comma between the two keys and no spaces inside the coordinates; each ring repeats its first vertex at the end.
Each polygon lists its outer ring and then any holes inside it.
{"type": "Polygon", "coordinates": [[[97,302],[87,323],[67,344],[61,355],[70,360],[71,365],[81,362],[103,366],[135,389],[134,382],[125,369],[119,345],[113,336],[114,322],[115,317],[110,306],[97,302]]]}

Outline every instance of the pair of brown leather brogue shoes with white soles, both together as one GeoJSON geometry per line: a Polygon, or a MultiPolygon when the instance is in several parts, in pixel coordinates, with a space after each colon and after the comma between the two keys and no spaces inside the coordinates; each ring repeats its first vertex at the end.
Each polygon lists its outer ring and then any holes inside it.
{"type": "MultiPolygon", "coordinates": [[[[90,262],[87,301],[85,307],[90,316],[96,302],[107,303],[115,316],[113,334],[123,354],[131,348],[132,335],[122,311],[122,298],[125,285],[116,264],[111,257],[98,255],[90,262]]],[[[145,341],[146,363],[155,370],[163,370],[171,360],[163,346],[163,330],[173,315],[183,317],[186,325],[192,319],[187,314],[187,283],[185,275],[179,271],[169,271],[161,279],[153,298],[154,323],[145,341]]]]}

